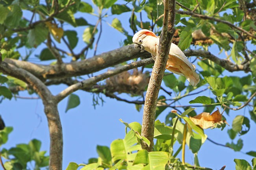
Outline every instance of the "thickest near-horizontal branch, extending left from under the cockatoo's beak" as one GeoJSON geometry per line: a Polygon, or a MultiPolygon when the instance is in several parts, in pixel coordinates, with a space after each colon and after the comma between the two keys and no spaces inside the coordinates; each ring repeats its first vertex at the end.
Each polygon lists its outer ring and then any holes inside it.
{"type": "Polygon", "coordinates": [[[149,58],[150,54],[148,52],[140,52],[139,50],[135,50],[133,45],[127,45],[119,49],[104,52],[86,60],[63,63],[61,67],[59,65],[34,64],[27,61],[13,60],[9,58],[6,58],[5,61],[25,69],[39,79],[43,80],[90,74],[117,65],[124,61],[145,56],[149,58]]]}

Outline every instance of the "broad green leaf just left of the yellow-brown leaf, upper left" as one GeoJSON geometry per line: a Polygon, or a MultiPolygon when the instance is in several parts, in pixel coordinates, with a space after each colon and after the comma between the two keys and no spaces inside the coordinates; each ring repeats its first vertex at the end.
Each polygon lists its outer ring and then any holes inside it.
{"type": "Polygon", "coordinates": [[[48,35],[48,29],[43,25],[36,25],[34,29],[31,29],[28,33],[28,45],[30,47],[37,47],[44,42],[48,35]]]}

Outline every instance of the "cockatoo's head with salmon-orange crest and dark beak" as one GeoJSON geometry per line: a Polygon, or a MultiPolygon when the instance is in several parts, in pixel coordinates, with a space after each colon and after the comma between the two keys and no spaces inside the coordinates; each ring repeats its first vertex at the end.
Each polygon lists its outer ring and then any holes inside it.
{"type": "Polygon", "coordinates": [[[158,38],[155,33],[147,29],[142,29],[132,37],[132,42],[134,43],[135,49],[141,49],[141,52],[145,51],[148,42],[152,40],[152,37],[158,38]]]}

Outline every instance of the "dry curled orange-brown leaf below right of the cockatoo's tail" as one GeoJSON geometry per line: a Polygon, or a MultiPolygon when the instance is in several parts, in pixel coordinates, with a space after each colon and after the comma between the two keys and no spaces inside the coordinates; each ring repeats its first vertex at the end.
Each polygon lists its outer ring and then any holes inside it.
{"type": "Polygon", "coordinates": [[[226,120],[222,121],[222,114],[219,112],[219,109],[217,109],[211,115],[210,113],[202,112],[194,116],[193,118],[189,116],[189,118],[191,119],[191,121],[193,121],[193,123],[195,123],[195,125],[198,125],[203,129],[214,127],[214,123],[226,123],[228,125],[226,120]]]}

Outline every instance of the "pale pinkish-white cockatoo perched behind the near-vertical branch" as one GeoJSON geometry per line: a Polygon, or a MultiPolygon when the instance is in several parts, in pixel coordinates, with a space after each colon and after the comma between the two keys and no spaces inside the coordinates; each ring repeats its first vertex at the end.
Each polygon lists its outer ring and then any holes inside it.
{"type": "MultiPolygon", "coordinates": [[[[155,61],[159,39],[152,31],[142,29],[134,34],[132,42],[134,43],[135,49],[140,48],[141,52],[145,50],[150,52],[155,61]]],[[[185,76],[193,86],[196,86],[200,80],[198,74],[195,72],[195,65],[187,60],[185,54],[174,43],[171,43],[169,58],[165,68],[178,75],[185,76]]]]}

